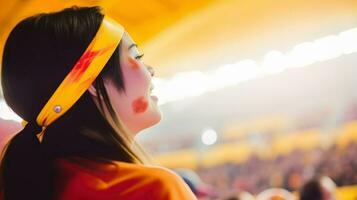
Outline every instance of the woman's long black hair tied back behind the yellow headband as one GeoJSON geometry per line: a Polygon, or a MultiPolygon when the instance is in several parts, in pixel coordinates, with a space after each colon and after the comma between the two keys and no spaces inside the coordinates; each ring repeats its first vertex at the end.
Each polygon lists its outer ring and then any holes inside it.
{"type": "Polygon", "coordinates": [[[3,94],[6,103],[29,124],[10,141],[3,155],[0,192],[6,200],[52,199],[53,161],[58,158],[142,162],[126,139],[104,87],[109,78],[119,90],[125,90],[120,44],[93,84],[99,106],[86,91],[47,127],[42,143],[31,133],[36,130],[37,115],[86,50],[103,17],[99,7],[72,7],[26,18],[10,33],[2,60],[3,94]],[[104,117],[104,109],[116,127],[104,117]]]}

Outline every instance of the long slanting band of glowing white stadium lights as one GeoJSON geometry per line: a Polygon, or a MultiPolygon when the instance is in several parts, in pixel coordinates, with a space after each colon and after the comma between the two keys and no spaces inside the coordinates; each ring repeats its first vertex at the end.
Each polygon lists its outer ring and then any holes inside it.
{"type": "Polygon", "coordinates": [[[160,79],[155,86],[160,98],[159,104],[162,105],[355,52],[357,28],[297,44],[286,53],[269,51],[261,62],[245,59],[207,72],[182,72],[169,79],[160,79]]]}

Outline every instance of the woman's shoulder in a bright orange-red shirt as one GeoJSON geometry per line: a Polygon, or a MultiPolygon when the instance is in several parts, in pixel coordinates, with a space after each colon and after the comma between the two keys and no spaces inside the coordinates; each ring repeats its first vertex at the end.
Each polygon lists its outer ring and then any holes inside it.
{"type": "Polygon", "coordinates": [[[195,199],[179,176],[162,167],[124,162],[83,167],[67,160],[57,165],[59,196],[67,197],[61,199],[195,199]]]}

